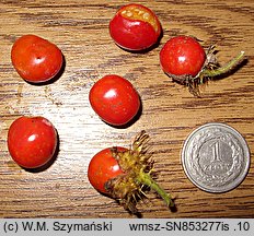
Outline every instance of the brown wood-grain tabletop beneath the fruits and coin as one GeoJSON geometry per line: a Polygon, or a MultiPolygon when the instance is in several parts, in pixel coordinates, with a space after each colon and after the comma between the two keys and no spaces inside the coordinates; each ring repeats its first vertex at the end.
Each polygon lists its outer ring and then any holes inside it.
{"type": "Polygon", "coordinates": [[[143,217],[253,217],[254,161],[234,190],[215,194],[195,187],[181,163],[184,140],[207,122],[234,127],[254,152],[253,0],[140,1],[159,16],[163,37],[146,54],[118,48],[108,22],[128,1],[0,1],[0,217],[134,217],[89,184],[86,169],[101,149],[129,146],[142,129],[151,137],[158,182],[176,197],[171,212],[153,193],[138,205],[143,217]],[[24,82],[11,64],[10,50],[24,34],[55,43],[65,55],[61,76],[47,85],[24,82]],[[161,70],[159,51],[172,36],[186,34],[216,44],[221,63],[240,50],[247,62],[223,80],[201,87],[201,98],[175,84],[161,70]],[[105,74],[128,79],[142,99],[142,114],[130,127],[107,126],[90,107],[91,86],[105,74]],[[23,115],[44,116],[57,128],[59,153],[47,169],[19,167],[7,149],[11,122],[23,115]]]}

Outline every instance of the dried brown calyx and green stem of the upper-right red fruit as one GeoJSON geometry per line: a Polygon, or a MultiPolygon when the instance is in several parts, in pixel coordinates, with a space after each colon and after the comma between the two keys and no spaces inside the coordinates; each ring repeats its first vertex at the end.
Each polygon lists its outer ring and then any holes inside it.
{"type": "Polygon", "coordinates": [[[189,92],[194,96],[197,96],[197,97],[200,96],[200,91],[199,91],[200,84],[216,76],[229,73],[230,71],[232,71],[232,69],[239,66],[244,58],[245,52],[240,51],[232,60],[230,60],[228,63],[220,67],[217,61],[215,48],[216,48],[215,46],[211,46],[207,50],[206,61],[204,63],[204,67],[196,76],[182,75],[178,78],[173,78],[181,84],[187,85],[189,88],[189,92]]]}

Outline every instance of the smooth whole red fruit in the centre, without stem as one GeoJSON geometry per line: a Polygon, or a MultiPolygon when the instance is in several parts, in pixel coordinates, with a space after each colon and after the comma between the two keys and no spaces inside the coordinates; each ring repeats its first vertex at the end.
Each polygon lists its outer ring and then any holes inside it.
{"type": "Polygon", "coordinates": [[[102,120],[112,126],[124,126],[135,118],[140,108],[140,98],[126,79],[108,74],[91,88],[89,99],[102,120]]]}

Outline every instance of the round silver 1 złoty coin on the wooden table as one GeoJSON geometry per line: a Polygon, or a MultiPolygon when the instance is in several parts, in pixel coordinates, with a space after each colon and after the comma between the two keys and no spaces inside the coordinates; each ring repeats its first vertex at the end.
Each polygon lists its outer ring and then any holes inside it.
{"type": "Polygon", "coordinates": [[[238,187],[250,168],[250,150],[232,127],[211,122],[194,130],[182,151],[182,164],[189,180],[208,192],[238,187]]]}

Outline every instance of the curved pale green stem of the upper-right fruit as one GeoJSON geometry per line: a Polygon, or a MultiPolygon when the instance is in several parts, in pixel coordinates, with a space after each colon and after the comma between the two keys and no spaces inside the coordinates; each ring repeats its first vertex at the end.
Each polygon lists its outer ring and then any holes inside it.
{"type": "Polygon", "coordinates": [[[229,72],[233,67],[235,67],[242,59],[243,59],[243,56],[244,56],[244,51],[241,51],[235,58],[233,58],[231,61],[229,61],[227,64],[220,67],[220,68],[217,68],[215,70],[210,70],[210,69],[204,69],[201,71],[201,75],[203,76],[217,76],[217,75],[220,75],[220,74],[223,74],[223,73],[227,73],[229,72]]]}

